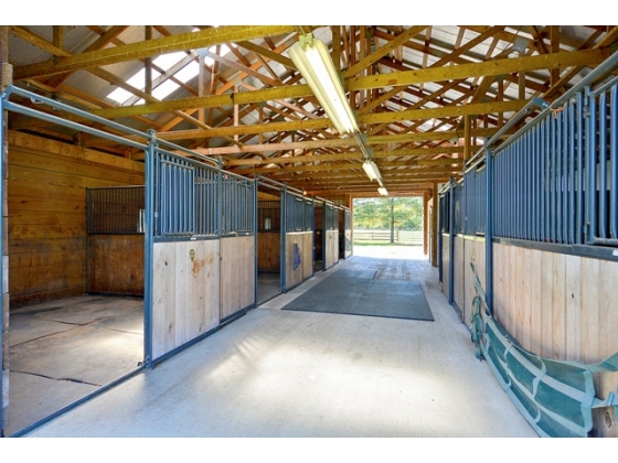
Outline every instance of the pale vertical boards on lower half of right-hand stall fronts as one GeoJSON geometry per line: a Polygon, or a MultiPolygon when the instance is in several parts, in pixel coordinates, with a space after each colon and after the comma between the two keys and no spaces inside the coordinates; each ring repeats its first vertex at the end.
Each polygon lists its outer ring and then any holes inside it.
{"type": "MultiPolygon", "coordinates": [[[[448,235],[443,235],[443,292],[448,297],[448,235]]],[[[470,329],[470,261],[486,284],[484,239],[455,237],[455,300],[470,329]],[[461,260],[464,267],[460,266],[461,260]],[[462,305],[460,305],[462,303],[462,305]]],[[[618,262],[493,244],[496,320],[525,349],[558,360],[598,363],[618,352],[618,262]]],[[[618,373],[595,375],[597,397],[618,386],[618,373]]],[[[614,409],[594,413],[599,437],[618,437],[614,409]]]]}

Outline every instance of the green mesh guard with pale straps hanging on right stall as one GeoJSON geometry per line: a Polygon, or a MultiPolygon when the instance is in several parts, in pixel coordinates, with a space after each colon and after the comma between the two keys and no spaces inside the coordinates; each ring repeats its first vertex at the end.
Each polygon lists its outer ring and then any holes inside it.
{"type": "Polygon", "coordinates": [[[471,338],[477,357],[488,360],[498,383],[541,437],[586,438],[593,409],[617,407],[618,396],[596,397],[594,373],[618,372],[618,353],[598,364],[562,362],[522,348],[493,319],[475,265],[471,338]]]}

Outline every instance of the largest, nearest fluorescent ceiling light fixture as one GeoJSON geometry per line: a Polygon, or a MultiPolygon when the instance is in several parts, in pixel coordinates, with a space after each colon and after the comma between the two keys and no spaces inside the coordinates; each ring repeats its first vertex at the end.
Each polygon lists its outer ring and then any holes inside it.
{"type": "Polygon", "coordinates": [[[339,133],[358,132],[359,126],[324,43],[313,39],[313,34],[301,35],[288,54],[339,133]]]}

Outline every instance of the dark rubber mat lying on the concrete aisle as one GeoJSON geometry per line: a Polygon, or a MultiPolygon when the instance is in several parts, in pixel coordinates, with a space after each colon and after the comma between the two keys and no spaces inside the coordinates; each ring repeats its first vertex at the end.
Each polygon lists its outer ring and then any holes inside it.
{"type": "Polygon", "coordinates": [[[369,273],[375,272],[339,270],[283,310],[434,321],[418,282],[372,280],[369,273]],[[337,276],[342,271],[362,276],[337,276]]]}

